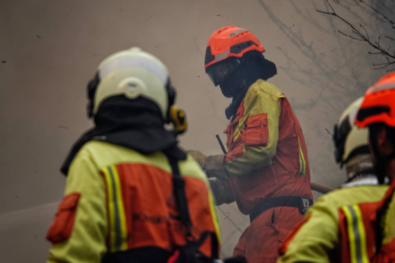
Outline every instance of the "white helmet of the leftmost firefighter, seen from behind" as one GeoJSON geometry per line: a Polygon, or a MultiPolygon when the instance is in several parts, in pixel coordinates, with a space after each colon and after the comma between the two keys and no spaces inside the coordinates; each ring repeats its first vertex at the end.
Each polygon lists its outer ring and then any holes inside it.
{"type": "Polygon", "coordinates": [[[175,99],[166,65],[138,47],[116,52],[99,64],[88,83],[88,116],[95,116],[105,99],[121,94],[128,99],[141,96],[153,101],[164,121],[168,121],[175,99]]]}

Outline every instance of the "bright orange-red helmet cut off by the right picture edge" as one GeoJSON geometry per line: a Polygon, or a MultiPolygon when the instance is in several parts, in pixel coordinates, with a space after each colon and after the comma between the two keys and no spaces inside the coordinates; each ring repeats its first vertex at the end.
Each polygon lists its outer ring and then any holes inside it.
{"type": "Polygon", "coordinates": [[[395,73],[380,78],[365,93],[355,124],[364,128],[373,123],[395,127],[395,73]]]}

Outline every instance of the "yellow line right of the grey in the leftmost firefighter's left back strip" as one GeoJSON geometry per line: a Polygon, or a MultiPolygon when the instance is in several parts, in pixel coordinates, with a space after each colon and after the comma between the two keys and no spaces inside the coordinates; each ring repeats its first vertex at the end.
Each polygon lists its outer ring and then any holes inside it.
{"type": "Polygon", "coordinates": [[[118,215],[119,215],[119,225],[120,225],[120,250],[126,250],[127,246],[127,237],[128,237],[128,228],[126,227],[126,216],[125,216],[125,209],[124,203],[122,198],[122,188],[120,185],[120,179],[117,167],[115,165],[111,166],[111,170],[114,175],[115,181],[115,189],[116,189],[116,196],[117,196],[117,204],[118,204],[118,215]]]}

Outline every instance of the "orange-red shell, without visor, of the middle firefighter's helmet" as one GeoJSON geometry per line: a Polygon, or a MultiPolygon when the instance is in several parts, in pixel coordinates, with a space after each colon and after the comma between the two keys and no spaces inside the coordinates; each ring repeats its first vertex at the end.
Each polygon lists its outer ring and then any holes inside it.
{"type": "Polygon", "coordinates": [[[216,30],[207,42],[205,69],[229,57],[241,58],[246,52],[264,52],[260,41],[249,30],[236,26],[225,26],[216,30]]]}

